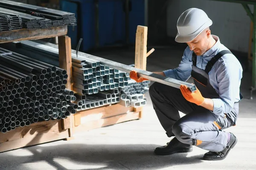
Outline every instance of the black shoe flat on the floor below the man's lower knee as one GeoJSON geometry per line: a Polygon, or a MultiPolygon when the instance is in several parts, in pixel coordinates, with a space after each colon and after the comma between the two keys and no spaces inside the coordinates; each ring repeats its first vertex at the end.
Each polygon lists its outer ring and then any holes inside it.
{"type": "Polygon", "coordinates": [[[177,140],[177,138],[173,138],[167,145],[162,147],[157,147],[154,150],[154,153],[157,155],[172,155],[173,153],[187,153],[192,152],[193,147],[190,144],[183,144],[177,140]]]}

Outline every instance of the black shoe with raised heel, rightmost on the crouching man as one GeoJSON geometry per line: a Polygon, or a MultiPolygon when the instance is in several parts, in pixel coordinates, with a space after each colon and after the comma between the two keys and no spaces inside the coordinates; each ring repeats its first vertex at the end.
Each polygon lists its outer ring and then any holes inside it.
{"type": "Polygon", "coordinates": [[[231,133],[230,141],[227,144],[227,147],[222,150],[221,152],[207,152],[204,154],[204,160],[207,161],[218,161],[218,160],[223,160],[224,158],[227,157],[227,154],[231,150],[231,148],[235,147],[237,143],[237,138],[236,136],[231,133]]]}

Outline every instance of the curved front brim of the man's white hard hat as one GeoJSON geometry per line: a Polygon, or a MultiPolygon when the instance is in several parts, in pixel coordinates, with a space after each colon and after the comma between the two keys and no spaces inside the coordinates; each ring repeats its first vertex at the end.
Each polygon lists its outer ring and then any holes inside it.
{"type": "Polygon", "coordinates": [[[179,35],[179,33],[177,33],[177,36],[175,37],[175,41],[178,43],[186,43],[189,41],[194,40],[201,32],[204,31],[204,29],[206,29],[207,27],[212,25],[212,20],[208,20],[206,23],[204,23],[204,25],[201,27],[201,29],[198,29],[198,31],[190,34],[190,35],[179,35]]]}

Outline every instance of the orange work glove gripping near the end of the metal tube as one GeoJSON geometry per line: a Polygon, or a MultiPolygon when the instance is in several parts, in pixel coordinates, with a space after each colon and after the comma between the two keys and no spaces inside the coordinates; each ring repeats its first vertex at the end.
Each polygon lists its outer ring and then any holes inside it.
{"type": "Polygon", "coordinates": [[[197,105],[203,104],[204,97],[201,95],[201,92],[198,89],[196,89],[195,92],[191,92],[186,85],[180,85],[180,91],[187,101],[197,105]]]}

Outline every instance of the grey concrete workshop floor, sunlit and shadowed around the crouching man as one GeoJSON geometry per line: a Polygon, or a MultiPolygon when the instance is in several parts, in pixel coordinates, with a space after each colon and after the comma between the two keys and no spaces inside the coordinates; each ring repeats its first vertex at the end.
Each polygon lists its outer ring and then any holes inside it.
{"type": "MultiPolygon", "coordinates": [[[[162,71],[179,64],[182,49],[154,48],[156,51],[148,58],[148,71],[162,71]]],[[[93,54],[125,64],[134,62],[134,49],[93,54]]],[[[244,72],[241,85],[244,99],[240,103],[237,126],[227,129],[238,137],[238,143],[223,161],[202,160],[207,151],[198,147],[194,147],[192,153],[154,155],[154,148],[166,144],[170,138],[165,135],[146,94],[148,104],[144,107],[143,119],[85,131],[72,141],[0,153],[0,170],[255,170],[256,92],[253,100],[247,99],[250,79],[250,72],[244,72]]]]}

